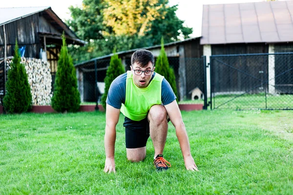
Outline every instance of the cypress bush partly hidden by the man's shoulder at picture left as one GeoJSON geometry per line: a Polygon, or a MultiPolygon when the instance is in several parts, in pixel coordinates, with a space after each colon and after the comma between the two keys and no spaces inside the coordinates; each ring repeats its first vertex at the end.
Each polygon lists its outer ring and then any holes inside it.
{"type": "Polygon", "coordinates": [[[108,91],[109,91],[111,83],[116,77],[125,73],[125,69],[124,69],[124,66],[122,65],[121,59],[118,58],[118,55],[116,54],[116,49],[114,49],[113,53],[114,55],[111,57],[110,65],[107,69],[106,77],[104,79],[105,93],[103,94],[101,99],[102,106],[104,107],[104,109],[106,109],[106,99],[108,96],[108,91]]]}

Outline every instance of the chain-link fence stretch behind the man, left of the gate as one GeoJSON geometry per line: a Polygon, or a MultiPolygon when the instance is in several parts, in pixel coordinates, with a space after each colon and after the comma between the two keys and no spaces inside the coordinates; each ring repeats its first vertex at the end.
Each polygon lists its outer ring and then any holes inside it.
{"type": "MultiPolygon", "coordinates": [[[[187,100],[191,99],[202,99],[205,92],[203,58],[168,58],[168,62],[174,70],[178,99],[181,99],[182,103],[188,103],[187,100]],[[185,71],[181,71],[182,69],[185,71]],[[200,93],[192,96],[195,89],[200,93]]],[[[130,59],[124,59],[122,63],[125,65],[126,71],[130,70],[130,59]]],[[[100,103],[101,96],[104,94],[104,79],[109,64],[110,59],[100,59],[77,68],[78,87],[82,101],[100,103]]]]}

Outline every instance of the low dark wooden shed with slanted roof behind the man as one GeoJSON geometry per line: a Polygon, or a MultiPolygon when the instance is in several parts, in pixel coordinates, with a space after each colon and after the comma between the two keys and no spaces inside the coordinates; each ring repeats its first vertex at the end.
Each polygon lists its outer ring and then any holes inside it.
{"type": "MultiPolygon", "coordinates": [[[[199,87],[204,91],[203,69],[203,47],[199,44],[200,38],[189,38],[182,41],[175,41],[164,44],[169,65],[174,69],[178,98],[191,98],[191,90],[199,87]]],[[[160,54],[161,45],[155,45],[140,49],[151,51],[156,58],[160,54]]],[[[119,58],[125,65],[126,70],[130,70],[131,55],[137,49],[118,52],[119,58]]],[[[78,72],[78,85],[82,101],[95,101],[95,83],[104,82],[107,66],[113,54],[90,59],[78,64],[75,67],[78,72]],[[95,66],[97,76],[95,75],[95,66]],[[95,82],[96,80],[96,82],[95,82]]],[[[99,91],[99,90],[98,90],[99,91]]],[[[99,94],[100,95],[100,94],[99,94]]]]}

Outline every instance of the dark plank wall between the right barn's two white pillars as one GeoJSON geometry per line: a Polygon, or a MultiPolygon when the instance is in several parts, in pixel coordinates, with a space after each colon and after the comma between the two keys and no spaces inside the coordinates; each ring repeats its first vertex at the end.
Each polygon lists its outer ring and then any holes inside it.
{"type": "MultiPolygon", "coordinates": [[[[269,46],[264,43],[211,45],[212,55],[258,54],[268,51],[269,46]]],[[[212,60],[211,67],[215,92],[260,93],[268,90],[267,84],[261,85],[268,80],[268,56],[220,57],[217,60],[212,60]],[[259,86],[256,87],[257,85],[259,86]]]]}

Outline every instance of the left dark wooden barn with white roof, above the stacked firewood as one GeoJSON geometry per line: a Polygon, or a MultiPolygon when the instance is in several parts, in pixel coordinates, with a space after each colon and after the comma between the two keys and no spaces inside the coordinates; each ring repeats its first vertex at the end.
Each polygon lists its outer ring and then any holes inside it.
{"type": "MultiPolygon", "coordinates": [[[[54,82],[63,32],[67,44],[86,44],[51,7],[0,8],[0,59],[4,58],[5,48],[7,57],[14,55],[17,39],[24,57],[48,60],[54,82]]],[[[2,85],[3,79],[0,83],[2,85]]]]}

